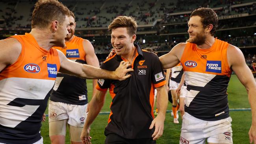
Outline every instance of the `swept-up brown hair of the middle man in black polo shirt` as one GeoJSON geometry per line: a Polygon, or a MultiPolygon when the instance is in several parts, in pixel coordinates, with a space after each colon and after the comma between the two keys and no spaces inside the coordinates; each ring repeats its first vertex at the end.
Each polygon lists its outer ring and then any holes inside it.
{"type": "Polygon", "coordinates": [[[108,30],[112,31],[115,28],[127,28],[128,34],[132,36],[136,35],[137,27],[137,22],[133,17],[119,16],[111,22],[108,26],[108,30]]]}

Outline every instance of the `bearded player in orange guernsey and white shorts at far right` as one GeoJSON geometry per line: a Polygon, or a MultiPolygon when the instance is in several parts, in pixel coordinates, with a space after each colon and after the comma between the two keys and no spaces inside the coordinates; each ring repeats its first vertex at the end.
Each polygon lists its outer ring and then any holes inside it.
{"type": "Polygon", "coordinates": [[[180,144],[232,144],[227,87],[232,71],[245,86],[252,108],[250,143],[256,144],[256,83],[239,48],[214,38],[218,25],[210,8],[194,10],[188,22],[189,42],[160,57],[164,69],[182,63],[187,94],[180,144]]]}

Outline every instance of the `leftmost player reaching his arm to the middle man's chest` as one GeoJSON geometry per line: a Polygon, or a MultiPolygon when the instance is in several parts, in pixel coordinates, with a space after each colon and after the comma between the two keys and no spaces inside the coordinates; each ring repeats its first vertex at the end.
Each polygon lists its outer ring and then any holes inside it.
{"type": "Polygon", "coordinates": [[[65,47],[69,16],[57,0],[39,0],[31,32],[0,41],[0,144],[43,144],[41,120],[58,71],[90,79],[130,77],[128,62],[110,72],[75,63],[52,48],[65,47]]]}

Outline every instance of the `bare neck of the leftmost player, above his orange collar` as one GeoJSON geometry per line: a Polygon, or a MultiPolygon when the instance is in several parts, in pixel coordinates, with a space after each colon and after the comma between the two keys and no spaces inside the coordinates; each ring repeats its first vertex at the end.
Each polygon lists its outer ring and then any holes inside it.
{"type": "Polygon", "coordinates": [[[35,38],[38,45],[41,48],[44,48],[45,50],[50,50],[54,46],[53,43],[51,43],[53,40],[53,36],[50,33],[50,31],[46,30],[40,30],[37,28],[33,28],[30,32],[31,35],[35,38]]]}

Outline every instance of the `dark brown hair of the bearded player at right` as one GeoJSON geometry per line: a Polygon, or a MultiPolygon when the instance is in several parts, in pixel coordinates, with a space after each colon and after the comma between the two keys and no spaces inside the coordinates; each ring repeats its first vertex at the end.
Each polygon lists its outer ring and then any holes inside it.
{"type": "Polygon", "coordinates": [[[212,30],[210,31],[211,35],[214,36],[217,28],[218,28],[218,16],[211,8],[201,7],[195,9],[190,17],[199,16],[202,18],[203,27],[206,28],[209,24],[213,25],[212,30]]]}

